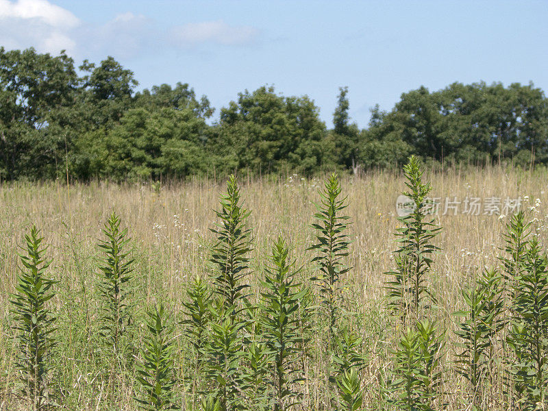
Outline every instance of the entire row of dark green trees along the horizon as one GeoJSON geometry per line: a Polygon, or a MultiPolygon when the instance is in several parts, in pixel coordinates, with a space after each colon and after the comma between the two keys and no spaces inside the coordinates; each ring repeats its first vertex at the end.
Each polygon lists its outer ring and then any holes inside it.
{"type": "Polygon", "coordinates": [[[271,86],[214,108],[188,84],[136,92],[114,58],[76,67],[60,55],[0,47],[0,181],[185,178],[395,168],[416,155],[444,164],[547,164],[545,93],[519,83],[453,83],[404,92],[364,129],[340,88],[333,127],[310,97],[271,86]]]}

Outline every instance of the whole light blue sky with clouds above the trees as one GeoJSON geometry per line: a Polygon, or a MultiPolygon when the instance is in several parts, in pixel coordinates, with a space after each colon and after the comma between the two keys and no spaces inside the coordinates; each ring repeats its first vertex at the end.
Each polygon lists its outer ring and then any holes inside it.
{"type": "Polygon", "coordinates": [[[188,83],[219,109],[274,86],[308,95],[327,127],[340,86],[351,121],[401,93],[453,82],[548,90],[548,1],[0,0],[0,45],[100,62],[137,90],[188,83]]]}

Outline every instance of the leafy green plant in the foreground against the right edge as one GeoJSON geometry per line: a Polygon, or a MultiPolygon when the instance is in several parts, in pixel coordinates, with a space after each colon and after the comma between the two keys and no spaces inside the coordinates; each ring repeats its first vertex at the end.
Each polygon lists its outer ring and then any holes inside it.
{"type": "Polygon", "coordinates": [[[548,393],[548,261],[536,237],[528,242],[517,278],[508,345],[514,352],[510,375],[521,410],[544,407],[548,393]]]}

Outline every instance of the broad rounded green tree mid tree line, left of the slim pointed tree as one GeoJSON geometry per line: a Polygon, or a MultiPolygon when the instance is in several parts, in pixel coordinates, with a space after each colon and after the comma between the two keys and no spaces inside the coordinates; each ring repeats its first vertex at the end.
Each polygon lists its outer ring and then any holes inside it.
{"type": "Polygon", "coordinates": [[[221,110],[208,144],[242,169],[311,173],[322,166],[324,133],[308,97],[283,97],[273,87],[261,87],[240,93],[237,102],[221,110]]]}

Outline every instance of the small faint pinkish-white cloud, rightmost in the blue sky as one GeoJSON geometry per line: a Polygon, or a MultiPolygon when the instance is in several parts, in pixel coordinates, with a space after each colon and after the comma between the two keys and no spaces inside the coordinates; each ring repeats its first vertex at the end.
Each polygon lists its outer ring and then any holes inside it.
{"type": "Polygon", "coordinates": [[[256,40],[258,29],[251,26],[230,26],[222,20],[188,23],[171,30],[175,44],[188,46],[212,42],[220,45],[245,45],[256,40]]]}

